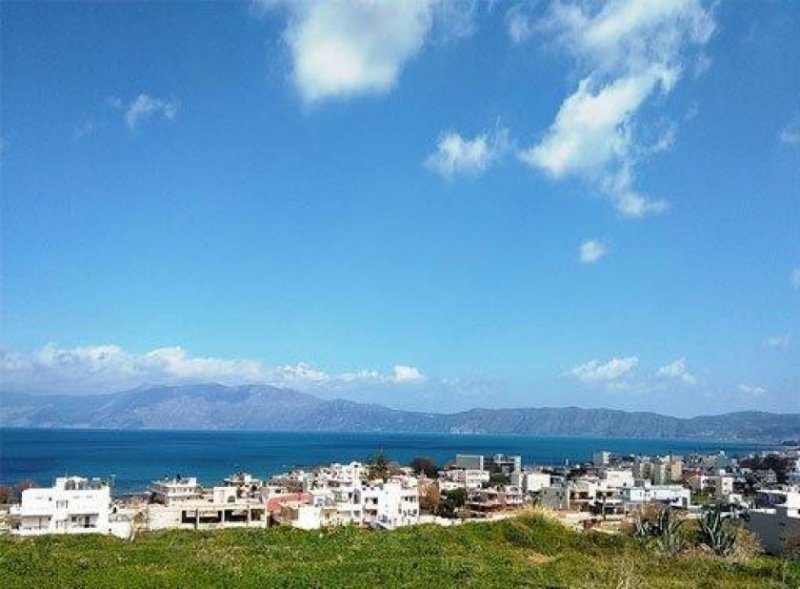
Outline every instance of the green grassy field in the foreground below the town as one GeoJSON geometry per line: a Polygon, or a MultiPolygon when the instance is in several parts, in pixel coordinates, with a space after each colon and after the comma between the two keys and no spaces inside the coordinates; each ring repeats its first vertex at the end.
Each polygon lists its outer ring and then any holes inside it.
{"type": "Polygon", "coordinates": [[[528,515],[453,528],[0,539],[0,587],[800,587],[800,563],[654,554],[528,515]]]}

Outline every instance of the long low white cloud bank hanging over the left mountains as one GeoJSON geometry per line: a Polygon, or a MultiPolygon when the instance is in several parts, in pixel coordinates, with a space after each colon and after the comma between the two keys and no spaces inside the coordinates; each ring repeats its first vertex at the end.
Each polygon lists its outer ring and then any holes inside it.
{"type": "Polygon", "coordinates": [[[193,356],[181,347],[137,354],[116,345],[59,348],[49,344],[32,353],[0,352],[0,381],[6,390],[96,393],[141,384],[270,384],[299,389],[339,389],[365,385],[407,385],[426,380],[416,367],[328,374],[300,362],[266,366],[247,359],[193,356]]]}

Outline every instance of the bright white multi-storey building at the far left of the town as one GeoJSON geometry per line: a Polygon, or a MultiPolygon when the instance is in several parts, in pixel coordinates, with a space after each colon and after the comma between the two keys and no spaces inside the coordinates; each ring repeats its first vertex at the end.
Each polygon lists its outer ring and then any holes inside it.
{"type": "Polygon", "coordinates": [[[52,487],[26,489],[14,514],[20,520],[15,532],[21,536],[130,534],[124,522],[111,517],[111,492],[98,479],[59,477],[52,487]]]}

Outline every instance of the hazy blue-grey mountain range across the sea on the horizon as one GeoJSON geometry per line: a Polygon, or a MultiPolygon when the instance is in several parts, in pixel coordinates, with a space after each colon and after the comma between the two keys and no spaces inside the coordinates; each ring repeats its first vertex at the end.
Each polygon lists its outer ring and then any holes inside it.
{"type": "Polygon", "coordinates": [[[740,412],[680,419],[578,407],[398,411],[270,386],[187,385],[108,395],[0,395],[0,425],[110,429],[387,431],[716,438],[800,438],[800,414],[740,412]]]}

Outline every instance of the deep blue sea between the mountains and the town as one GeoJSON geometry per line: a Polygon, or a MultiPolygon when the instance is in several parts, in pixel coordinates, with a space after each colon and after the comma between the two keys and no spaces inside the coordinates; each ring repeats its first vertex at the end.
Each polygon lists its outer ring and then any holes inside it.
{"type": "Polygon", "coordinates": [[[573,438],[509,435],[1,429],[0,483],[56,476],[111,478],[115,494],[142,491],[151,480],[175,474],[205,485],[238,470],[256,476],[329,462],[365,460],[377,451],[408,463],[430,456],[437,463],[457,453],[520,454],[524,464],[557,465],[590,460],[592,453],[731,455],[763,449],[758,444],[709,440],[573,438]]]}

